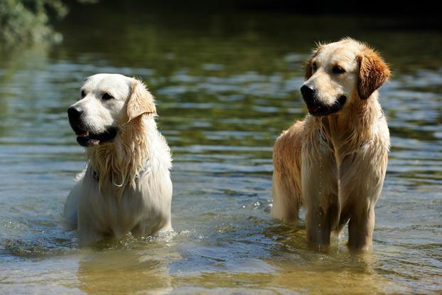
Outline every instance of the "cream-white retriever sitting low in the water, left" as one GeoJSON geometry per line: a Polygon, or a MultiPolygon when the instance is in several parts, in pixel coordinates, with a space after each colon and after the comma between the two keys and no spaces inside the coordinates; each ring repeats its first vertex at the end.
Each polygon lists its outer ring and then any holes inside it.
{"type": "Polygon", "coordinates": [[[123,75],[88,77],[68,115],[88,159],[64,210],[80,244],[171,230],[171,152],[144,84],[123,75]]]}

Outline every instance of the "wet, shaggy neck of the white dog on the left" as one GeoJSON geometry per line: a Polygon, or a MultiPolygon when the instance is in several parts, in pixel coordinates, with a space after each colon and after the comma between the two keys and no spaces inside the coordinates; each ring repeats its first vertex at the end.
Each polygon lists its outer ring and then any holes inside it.
{"type": "Polygon", "coordinates": [[[90,166],[97,175],[99,188],[104,191],[112,183],[115,190],[124,191],[128,184],[134,185],[151,157],[151,141],[157,136],[153,119],[137,117],[124,124],[113,142],[88,148],[90,166]]]}

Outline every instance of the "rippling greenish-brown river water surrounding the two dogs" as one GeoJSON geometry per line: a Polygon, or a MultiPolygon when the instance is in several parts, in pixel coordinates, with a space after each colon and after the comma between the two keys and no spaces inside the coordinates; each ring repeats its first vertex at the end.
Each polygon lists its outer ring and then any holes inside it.
{"type": "Polygon", "coordinates": [[[442,38],[369,19],[112,15],[60,26],[63,44],[0,57],[0,293],[438,293],[442,289],[442,38]],[[124,26],[122,26],[124,23],[124,26]],[[94,29],[90,29],[94,28],[94,29]],[[271,146],[306,113],[298,88],[315,40],[381,50],[392,134],[374,246],[346,232],[313,251],[269,217],[271,146]],[[426,43],[426,46],[421,44],[426,43]],[[173,151],[174,237],[80,250],[60,214],[84,166],[66,108],[95,73],[137,75],[173,151]]]}

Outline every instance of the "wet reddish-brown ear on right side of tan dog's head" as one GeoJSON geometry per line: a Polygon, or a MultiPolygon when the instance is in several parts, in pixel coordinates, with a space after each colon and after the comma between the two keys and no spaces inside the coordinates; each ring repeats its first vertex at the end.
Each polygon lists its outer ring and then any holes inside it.
{"type": "Polygon", "coordinates": [[[366,100],[389,79],[391,72],[387,63],[370,48],[357,55],[357,63],[360,68],[357,92],[361,100],[366,100]]]}

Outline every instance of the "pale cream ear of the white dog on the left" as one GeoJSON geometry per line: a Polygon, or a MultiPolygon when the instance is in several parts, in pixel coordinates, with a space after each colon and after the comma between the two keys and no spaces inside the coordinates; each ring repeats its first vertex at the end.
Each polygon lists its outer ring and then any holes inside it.
{"type": "Polygon", "coordinates": [[[140,80],[134,79],[132,82],[131,97],[127,101],[127,122],[131,119],[147,114],[149,117],[156,116],[155,100],[151,92],[146,89],[146,86],[140,80]]]}

